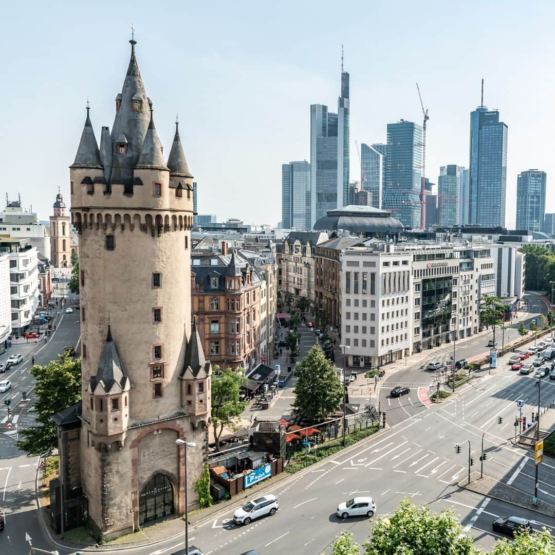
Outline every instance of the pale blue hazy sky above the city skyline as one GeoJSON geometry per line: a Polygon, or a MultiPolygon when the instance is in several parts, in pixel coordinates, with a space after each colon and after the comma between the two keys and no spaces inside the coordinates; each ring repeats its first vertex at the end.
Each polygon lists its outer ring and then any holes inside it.
{"type": "Polygon", "coordinates": [[[175,114],[198,212],[218,221],[275,225],[281,164],[310,159],[310,104],[335,111],[341,44],[350,73],[351,180],[355,141],[386,141],[387,123],[422,123],[429,109],[426,175],[468,166],[470,112],[499,109],[508,125],[506,225],[514,226],[519,172],[547,172],[555,212],[553,2],[9,3],[0,20],[0,193],[21,193],[48,218],[69,169],[87,98],[97,141],[112,127],[115,96],[137,59],[169,152],[175,114]],[[24,7],[22,7],[24,6],[24,7]]]}

